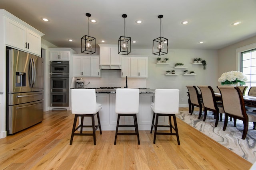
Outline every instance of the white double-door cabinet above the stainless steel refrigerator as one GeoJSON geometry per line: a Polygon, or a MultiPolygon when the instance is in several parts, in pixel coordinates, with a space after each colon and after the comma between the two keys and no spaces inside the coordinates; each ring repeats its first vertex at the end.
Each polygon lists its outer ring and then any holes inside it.
{"type": "Polygon", "coordinates": [[[41,55],[41,36],[9,18],[5,18],[5,43],[11,47],[41,55]]]}

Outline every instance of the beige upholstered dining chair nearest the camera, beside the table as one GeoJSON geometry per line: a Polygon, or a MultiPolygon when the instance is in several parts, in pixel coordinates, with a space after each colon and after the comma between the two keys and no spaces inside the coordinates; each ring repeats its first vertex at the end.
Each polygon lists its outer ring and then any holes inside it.
{"type": "Polygon", "coordinates": [[[246,138],[249,122],[253,122],[253,129],[256,126],[256,114],[251,111],[246,111],[244,98],[241,90],[234,86],[218,86],[222,97],[223,109],[225,112],[225,120],[223,130],[226,130],[228,125],[228,116],[234,119],[239,119],[244,122],[244,130],[242,139],[246,138]]]}

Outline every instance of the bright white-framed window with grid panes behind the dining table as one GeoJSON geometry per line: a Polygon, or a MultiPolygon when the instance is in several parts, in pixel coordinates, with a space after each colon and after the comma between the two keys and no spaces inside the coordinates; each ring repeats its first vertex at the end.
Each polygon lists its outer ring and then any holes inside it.
{"type": "Polygon", "coordinates": [[[241,71],[247,77],[245,95],[248,94],[250,87],[256,86],[256,49],[241,53],[241,71]]]}

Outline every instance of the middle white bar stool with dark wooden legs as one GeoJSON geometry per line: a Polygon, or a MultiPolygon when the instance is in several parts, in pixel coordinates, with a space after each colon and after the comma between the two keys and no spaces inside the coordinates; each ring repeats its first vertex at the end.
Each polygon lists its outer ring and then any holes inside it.
{"type": "Polygon", "coordinates": [[[137,113],[139,113],[139,89],[138,88],[118,88],[116,89],[116,113],[118,114],[116,124],[116,136],[114,145],[116,145],[117,135],[136,135],[140,145],[138,130],[137,113]],[[134,125],[119,125],[120,116],[132,116],[134,125]],[[118,133],[119,127],[134,127],[135,133],[118,133]]]}

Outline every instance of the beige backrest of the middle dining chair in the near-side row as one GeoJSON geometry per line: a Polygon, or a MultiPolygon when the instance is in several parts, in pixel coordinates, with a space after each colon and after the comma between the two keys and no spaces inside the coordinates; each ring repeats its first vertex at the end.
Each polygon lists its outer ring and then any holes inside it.
{"type": "Polygon", "coordinates": [[[198,86],[201,91],[204,107],[216,110],[217,103],[215,100],[214,91],[211,86],[198,86]]]}

